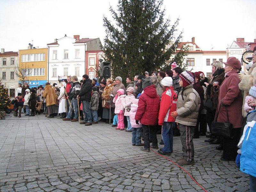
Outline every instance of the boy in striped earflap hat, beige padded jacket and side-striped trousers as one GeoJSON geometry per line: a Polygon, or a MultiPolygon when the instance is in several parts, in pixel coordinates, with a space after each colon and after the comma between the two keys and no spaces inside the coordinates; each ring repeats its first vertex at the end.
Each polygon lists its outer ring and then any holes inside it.
{"type": "Polygon", "coordinates": [[[201,103],[198,93],[193,89],[194,82],[195,76],[192,72],[184,71],[180,74],[179,84],[182,91],[178,96],[177,110],[171,114],[176,117],[175,122],[180,129],[180,140],[184,152],[183,157],[177,162],[179,165],[194,164],[193,136],[201,103]]]}

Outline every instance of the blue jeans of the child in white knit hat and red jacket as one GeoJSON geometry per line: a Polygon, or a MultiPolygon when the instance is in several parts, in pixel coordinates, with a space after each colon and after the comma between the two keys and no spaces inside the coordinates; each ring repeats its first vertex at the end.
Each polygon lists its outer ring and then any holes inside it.
{"type": "Polygon", "coordinates": [[[164,148],[162,149],[165,153],[172,153],[173,148],[173,133],[172,133],[172,122],[164,122],[162,127],[162,137],[164,141],[164,148]]]}

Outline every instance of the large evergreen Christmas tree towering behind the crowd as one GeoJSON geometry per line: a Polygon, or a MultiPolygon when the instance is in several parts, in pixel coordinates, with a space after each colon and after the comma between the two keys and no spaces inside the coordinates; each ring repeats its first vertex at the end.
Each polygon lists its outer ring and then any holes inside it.
{"type": "Polygon", "coordinates": [[[162,5],[163,0],[119,0],[117,11],[110,7],[114,23],[104,16],[103,50],[114,77],[166,69],[173,61],[184,68],[186,48],[175,54],[182,35],[175,38],[179,19],[173,24],[164,19],[162,5]]]}

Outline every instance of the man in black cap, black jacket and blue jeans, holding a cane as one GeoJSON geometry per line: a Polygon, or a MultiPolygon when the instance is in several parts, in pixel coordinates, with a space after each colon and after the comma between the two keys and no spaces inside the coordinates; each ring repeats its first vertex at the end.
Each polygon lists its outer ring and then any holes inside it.
{"type": "Polygon", "coordinates": [[[83,103],[83,114],[84,114],[84,122],[80,124],[85,124],[85,126],[92,125],[92,114],[90,110],[90,102],[92,96],[92,83],[89,79],[88,75],[83,75],[83,84],[81,90],[78,94],[80,97],[80,101],[83,103]]]}

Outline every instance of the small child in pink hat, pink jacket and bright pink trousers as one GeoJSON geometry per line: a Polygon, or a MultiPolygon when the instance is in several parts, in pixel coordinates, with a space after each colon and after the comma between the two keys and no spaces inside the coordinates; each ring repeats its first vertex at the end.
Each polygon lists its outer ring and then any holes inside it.
{"type": "Polygon", "coordinates": [[[118,124],[116,130],[124,130],[124,105],[123,101],[126,95],[124,95],[123,89],[118,89],[113,102],[115,103],[115,114],[118,117],[118,124]]]}

